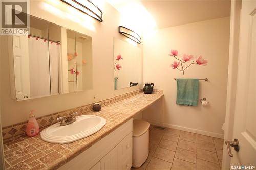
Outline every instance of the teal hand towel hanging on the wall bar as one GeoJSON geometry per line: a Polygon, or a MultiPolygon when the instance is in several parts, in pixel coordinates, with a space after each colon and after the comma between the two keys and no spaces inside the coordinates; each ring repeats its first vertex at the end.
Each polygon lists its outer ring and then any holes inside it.
{"type": "Polygon", "coordinates": [[[177,105],[197,106],[199,93],[198,79],[177,79],[177,105]]]}

